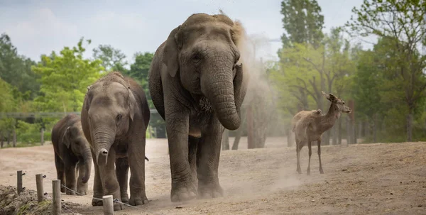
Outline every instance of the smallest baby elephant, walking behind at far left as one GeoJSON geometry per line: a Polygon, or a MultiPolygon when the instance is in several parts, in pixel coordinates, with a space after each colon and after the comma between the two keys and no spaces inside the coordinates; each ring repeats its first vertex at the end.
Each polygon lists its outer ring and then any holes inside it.
{"type": "Polygon", "coordinates": [[[60,119],[52,129],[55,166],[58,173],[61,192],[66,194],[87,194],[87,181],[92,168],[92,154],[87,139],[82,131],[80,116],[68,114],[60,119]],[[78,172],[76,182],[76,166],[78,172]],[[70,190],[71,189],[71,190],[70,190]]]}

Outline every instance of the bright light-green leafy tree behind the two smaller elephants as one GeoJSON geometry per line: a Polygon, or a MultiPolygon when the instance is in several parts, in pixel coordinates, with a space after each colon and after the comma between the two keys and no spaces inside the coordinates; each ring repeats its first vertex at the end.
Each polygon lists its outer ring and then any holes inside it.
{"type": "Polygon", "coordinates": [[[58,55],[43,55],[41,62],[33,66],[33,71],[41,76],[41,95],[35,99],[38,111],[80,111],[87,87],[104,70],[101,60],[83,58],[83,42],[81,38],[77,47],[65,47],[58,55]]]}

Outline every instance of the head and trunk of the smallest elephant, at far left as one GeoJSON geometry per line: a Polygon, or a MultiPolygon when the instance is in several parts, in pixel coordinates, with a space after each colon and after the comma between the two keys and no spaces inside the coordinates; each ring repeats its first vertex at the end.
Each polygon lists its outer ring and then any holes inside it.
{"type": "Polygon", "coordinates": [[[92,167],[92,153],[90,153],[90,145],[84,137],[81,124],[77,123],[73,126],[68,126],[65,129],[61,142],[65,144],[67,148],[72,150],[72,153],[83,158],[85,172],[82,177],[82,182],[87,183],[90,177],[90,169],[92,167]]]}

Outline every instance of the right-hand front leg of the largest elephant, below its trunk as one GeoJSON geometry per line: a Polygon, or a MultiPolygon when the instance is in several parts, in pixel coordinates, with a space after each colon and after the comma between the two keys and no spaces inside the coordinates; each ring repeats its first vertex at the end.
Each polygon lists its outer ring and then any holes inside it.
{"type": "MultiPolygon", "coordinates": [[[[219,126],[217,126],[219,127],[219,126]]],[[[197,150],[198,196],[200,198],[215,198],[223,196],[219,184],[219,157],[222,142],[222,128],[212,129],[202,135],[197,150]]]]}

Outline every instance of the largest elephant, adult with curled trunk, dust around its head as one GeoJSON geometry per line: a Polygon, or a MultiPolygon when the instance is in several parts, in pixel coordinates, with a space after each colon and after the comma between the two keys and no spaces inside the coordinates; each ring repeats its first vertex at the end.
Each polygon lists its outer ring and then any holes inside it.
{"type": "Polygon", "coordinates": [[[239,63],[243,35],[225,15],[195,13],[155,51],[149,89],[166,123],[172,202],[223,195],[222,133],[239,128],[248,82],[239,63]]]}

